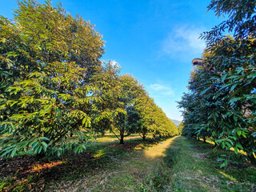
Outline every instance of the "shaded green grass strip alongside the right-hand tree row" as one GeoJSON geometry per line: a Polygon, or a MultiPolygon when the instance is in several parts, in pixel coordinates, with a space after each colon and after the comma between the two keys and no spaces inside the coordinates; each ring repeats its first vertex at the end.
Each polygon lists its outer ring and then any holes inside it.
{"type": "Polygon", "coordinates": [[[256,169],[243,154],[212,150],[209,143],[178,138],[166,150],[165,162],[172,169],[170,191],[255,191],[256,169]],[[190,147],[191,146],[191,147],[190,147]],[[220,169],[218,158],[230,157],[220,169]]]}

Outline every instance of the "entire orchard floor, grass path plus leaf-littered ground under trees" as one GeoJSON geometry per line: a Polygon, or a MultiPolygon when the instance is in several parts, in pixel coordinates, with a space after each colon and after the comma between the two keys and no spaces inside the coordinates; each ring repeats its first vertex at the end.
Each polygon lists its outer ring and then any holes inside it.
{"type": "Polygon", "coordinates": [[[184,137],[143,142],[131,135],[124,145],[119,145],[111,134],[97,141],[83,154],[66,154],[62,158],[42,161],[32,159],[34,166],[26,169],[30,170],[27,174],[22,174],[24,170],[13,171],[8,177],[0,174],[0,190],[256,190],[256,169],[246,162],[246,156],[213,151],[209,143],[184,137]],[[230,157],[230,161],[225,169],[220,169],[218,158],[223,154],[230,157]]]}

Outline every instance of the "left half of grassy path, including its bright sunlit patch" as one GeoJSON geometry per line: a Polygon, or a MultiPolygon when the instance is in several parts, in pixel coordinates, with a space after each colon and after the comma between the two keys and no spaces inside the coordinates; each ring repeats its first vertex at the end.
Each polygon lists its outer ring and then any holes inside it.
{"type": "Polygon", "coordinates": [[[166,171],[162,158],[174,138],[150,142],[127,141],[124,146],[114,145],[114,150],[105,150],[110,157],[105,168],[88,174],[79,181],[66,185],[58,182],[54,191],[159,191],[163,190],[171,174],[166,171]],[[127,150],[128,149],[128,150],[127,150]],[[110,152],[111,151],[111,152],[110,152]],[[125,151],[125,153],[123,153],[125,151]],[[122,154],[123,153],[123,154],[122,154]],[[59,188],[62,188],[61,190],[59,188]]]}

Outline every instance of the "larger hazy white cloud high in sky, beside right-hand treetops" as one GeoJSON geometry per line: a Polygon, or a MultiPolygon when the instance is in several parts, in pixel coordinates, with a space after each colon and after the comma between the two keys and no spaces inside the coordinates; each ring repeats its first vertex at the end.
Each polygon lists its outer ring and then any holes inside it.
{"type": "Polygon", "coordinates": [[[198,39],[206,29],[202,26],[176,26],[162,41],[161,56],[169,55],[171,58],[186,58],[200,56],[206,47],[203,40],[198,39]]]}

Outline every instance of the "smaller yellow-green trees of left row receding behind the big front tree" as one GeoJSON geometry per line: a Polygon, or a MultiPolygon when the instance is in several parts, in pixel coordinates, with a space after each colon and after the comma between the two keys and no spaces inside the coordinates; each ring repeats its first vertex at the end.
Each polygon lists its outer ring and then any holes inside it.
{"type": "Polygon", "coordinates": [[[104,134],[110,130],[121,144],[130,134],[139,134],[145,140],[148,134],[177,133],[177,127],[166,118],[137,79],[129,74],[120,75],[120,67],[111,61],[98,71],[92,80],[101,85],[96,93],[100,101],[94,103],[94,131],[104,134]]]}

